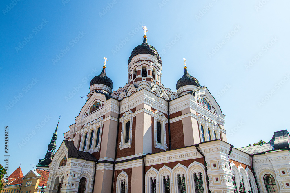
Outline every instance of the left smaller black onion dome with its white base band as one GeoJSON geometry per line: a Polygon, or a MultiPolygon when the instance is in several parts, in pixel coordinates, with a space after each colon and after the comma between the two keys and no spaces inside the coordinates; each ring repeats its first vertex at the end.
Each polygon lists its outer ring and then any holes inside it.
{"type": "MultiPolygon", "coordinates": [[[[94,87],[95,87],[94,86],[94,87]]],[[[109,94],[112,93],[112,89],[113,89],[113,82],[112,80],[106,75],[106,66],[103,67],[103,71],[102,73],[100,73],[98,76],[95,76],[91,82],[90,82],[90,90],[105,90],[107,91],[109,94]],[[92,86],[95,85],[96,88],[93,89],[92,86]],[[104,87],[102,87],[102,85],[104,85],[104,87]],[[99,88],[99,87],[100,88],[99,88]],[[106,89],[107,88],[107,89],[106,89]]]]}

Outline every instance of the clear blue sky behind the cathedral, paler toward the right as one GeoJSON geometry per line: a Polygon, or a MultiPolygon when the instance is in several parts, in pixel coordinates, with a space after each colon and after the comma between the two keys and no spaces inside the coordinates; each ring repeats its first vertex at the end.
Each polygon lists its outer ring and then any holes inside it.
{"type": "Polygon", "coordinates": [[[3,141],[9,126],[11,171],[21,162],[26,174],[44,157],[59,115],[60,146],[103,57],[113,89],[127,83],[142,25],[162,57],[162,83],[176,91],[185,57],[189,73],[226,115],[229,143],[268,142],[274,131],[289,129],[289,1],[14,1],[0,3],[0,136],[3,141]],[[28,135],[33,137],[19,148],[28,135]]]}

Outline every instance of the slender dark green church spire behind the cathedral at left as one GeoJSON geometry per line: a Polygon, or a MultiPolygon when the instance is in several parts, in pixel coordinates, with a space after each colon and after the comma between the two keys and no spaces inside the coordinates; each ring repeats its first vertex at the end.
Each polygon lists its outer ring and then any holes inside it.
{"type": "MultiPolygon", "coordinates": [[[[59,115],[59,120],[60,120],[60,115],[59,115]]],[[[49,170],[48,164],[51,163],[51,160],[55,154],[55,149],[56,149],[56,140],[57,140],[57,128],[59,124],[59,120],[57,122],[57,126],[55,128],[55,132],[52,134],[51,141],[48,144],[47,152],[45,154],[44,159],[39,159],[39,162],[36,166],[37,169],[40,170],[49,170]]]]}

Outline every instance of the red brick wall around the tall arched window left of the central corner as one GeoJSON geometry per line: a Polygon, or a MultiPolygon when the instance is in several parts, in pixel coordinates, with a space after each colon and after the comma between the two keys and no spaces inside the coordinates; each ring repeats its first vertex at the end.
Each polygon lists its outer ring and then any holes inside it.
{"type": "MultiPolygon", "coordinates": [[[[135,108],[136,109],[136,108],[135,108]]],[[[124,128],[125,129],[125,128],[124,128]]],[[[119,144],[121,141],[122,123],[119,124],[118,144],[117,144],[117,158],[126,157],[135,154],[135,133],[136,133],[136,117],[133,117],[132,122],[132,145],[131,148],[124,148],[120,150],[119,144]]],[[[123,133],[125,135],[125,132],[123,133]]]]}

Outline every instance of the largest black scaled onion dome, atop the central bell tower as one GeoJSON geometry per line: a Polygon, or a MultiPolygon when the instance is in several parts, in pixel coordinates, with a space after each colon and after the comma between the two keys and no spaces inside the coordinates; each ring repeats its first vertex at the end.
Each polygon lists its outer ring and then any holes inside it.
{"type": "Polygon", "coordinates": [[[162,65],[161,57],[159,56],[155,47],[153,47],[152,45],[149,45],[147,43],[146,37],[144,37],[142,44],[136,46],[133,49],[131,56],[129,57],[128,64],[131,62],[132,58],[134,56],[137,56],[138,54],[150,54],[150,55],[154,56],[155,58],[157,58],[158,62],[160,62],[160,64],[162,65]]]}

